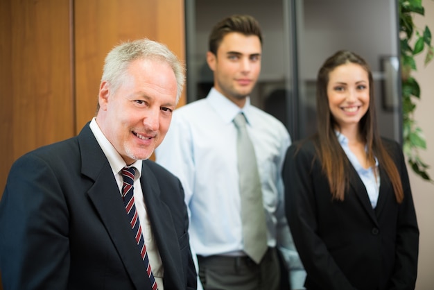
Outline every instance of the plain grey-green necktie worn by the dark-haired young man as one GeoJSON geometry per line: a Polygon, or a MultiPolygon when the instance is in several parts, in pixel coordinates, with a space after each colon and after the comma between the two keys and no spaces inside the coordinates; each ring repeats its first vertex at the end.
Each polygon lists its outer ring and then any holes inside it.
{"type": "Polygon", "coordinates": [[[254,154],[245,127],[245,117],[239,113],[234,118],[238,131],[238,173],[240,176],[241,220],[243,222],[244,251],[254,262],[261,262],[267,250],[267,226],[263,209],[261,181],[254,154]]]}

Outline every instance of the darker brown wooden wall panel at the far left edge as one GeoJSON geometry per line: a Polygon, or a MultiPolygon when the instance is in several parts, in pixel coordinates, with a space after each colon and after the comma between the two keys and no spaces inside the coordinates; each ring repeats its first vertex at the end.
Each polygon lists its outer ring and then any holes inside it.
{"type": "Polygon", "coordinates": [[[69,18],[69,0],[1,0],[1,194],[13,160],[74,133],[69,18]]]}

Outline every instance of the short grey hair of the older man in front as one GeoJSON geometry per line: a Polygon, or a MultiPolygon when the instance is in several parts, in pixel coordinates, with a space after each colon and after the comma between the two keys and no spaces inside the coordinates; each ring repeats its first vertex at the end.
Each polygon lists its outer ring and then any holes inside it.
{"type": "Polygon", "coordinates": [[[116,89],[119,88],[123,81],[123,76],[128,69],[128,65],[137,59],[160,60],[171,66],[177,82],[177,103],[180,100],[185,82],[184,64],[178,60],[177,56],[166,45],[148,40],[147,38],[123,42],[114,46],[112,51],[105,57],[101,83],[107,81],[114,89],[114,92],[116,92],[116,89]]]}

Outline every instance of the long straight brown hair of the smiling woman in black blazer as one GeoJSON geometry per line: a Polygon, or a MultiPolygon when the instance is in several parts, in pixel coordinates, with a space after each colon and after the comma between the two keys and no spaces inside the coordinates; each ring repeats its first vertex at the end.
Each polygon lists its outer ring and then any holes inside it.
{"type": "Polygon", "coordinates": [[[392,182],[397,202],[401,203],[403,200],[401,178],[392,157],[385,150],[381,142],[377,128],[372,72],[367,62],[361,56],[351,51],[336,52],[333,56],[327,58],[318,71],[316,101],[319,143],[317,144],[317,151],[322,162],[322,171],[329,180],[333,198],[343,201],[345,189],[349,187],[349,171],[345,170],[349,165],[349,161],[336,137],[335,128],[339,128],[339,126],[330,112],[327,85],[329,83],[330,72],[336,69],[336,67],[349,62],[360,65],[367,71],[369,78],[370,105],[358,124],[360,133],[366,143],[367,160],[374,160],[374,157],[379,160],[379,165],[384,168],[392,182]]]}

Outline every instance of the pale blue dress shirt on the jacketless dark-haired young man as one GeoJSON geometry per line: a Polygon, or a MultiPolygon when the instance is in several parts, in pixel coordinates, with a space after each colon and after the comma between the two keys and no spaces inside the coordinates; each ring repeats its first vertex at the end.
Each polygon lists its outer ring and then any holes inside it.
{"type": "Polygon", "coordinates": [[[232,122],[239,112],[248,121],[257,155],[268,246],[277,246],[286,262],[299,268],[300,258],[284,214],[281,179],[290,136],[275,117],[250,105],[249,98],[240,109],[213,88],[206,99],[174,111],[171,127],[155,151],[156,162],[182,182],[194,252],[203,256],[242,253],[236,128],[232,122]]]}

